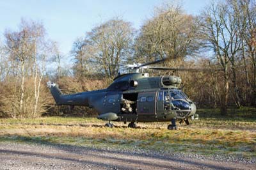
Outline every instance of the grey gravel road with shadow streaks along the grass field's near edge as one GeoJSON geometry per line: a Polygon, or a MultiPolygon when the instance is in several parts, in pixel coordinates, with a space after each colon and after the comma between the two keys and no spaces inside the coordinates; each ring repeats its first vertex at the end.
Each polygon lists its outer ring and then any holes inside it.
{"type": "Polygon", "coordinates": [[[63,144],[0,143],[0,169],[256,169],[256,164],[63,144]]]}

